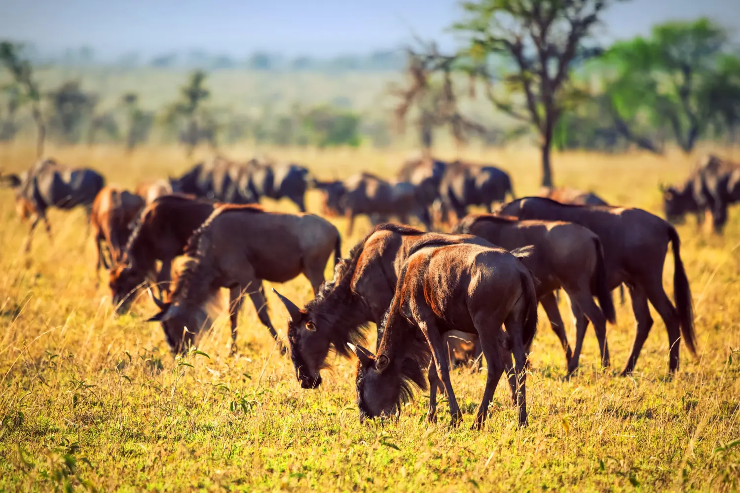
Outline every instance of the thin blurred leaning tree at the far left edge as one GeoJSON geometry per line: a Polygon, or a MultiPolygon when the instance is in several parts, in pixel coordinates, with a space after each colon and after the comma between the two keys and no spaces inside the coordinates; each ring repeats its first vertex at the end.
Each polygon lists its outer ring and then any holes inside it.
{"type": "Polygon", "coordinates": [[[21,58],[21,46],[2,41],[0,43],[0,64],[13,75],[20,95],[19,104],[29,104],[31,116],[36,123],[36,157],[44,154],[44,139],[46,138],[46,125],[41,115],[41,93],[38,91],[36,81],[33,80],[33,68],[30,61],[21,58]]]}

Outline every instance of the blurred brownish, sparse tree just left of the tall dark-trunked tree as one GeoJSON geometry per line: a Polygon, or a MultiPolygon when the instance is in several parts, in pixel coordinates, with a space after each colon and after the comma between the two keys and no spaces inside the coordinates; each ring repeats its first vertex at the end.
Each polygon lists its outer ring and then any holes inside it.
{"type": "Polygon", "coordinates": [[[434,43],[423,46],[419,52],[408,49],[408,85],[390,87],[391,95],[398,99],[394,113],[399,132],[404,132],[409,113],[416,112],[414,126],[425,153],[431,149],[437,128],[447,127],[457,143],[465,142],[470,134],[485,134],[483,126],[465,118],[458,109],[452,84],[457,62],[455,56],[441,55],[434,43]]]}

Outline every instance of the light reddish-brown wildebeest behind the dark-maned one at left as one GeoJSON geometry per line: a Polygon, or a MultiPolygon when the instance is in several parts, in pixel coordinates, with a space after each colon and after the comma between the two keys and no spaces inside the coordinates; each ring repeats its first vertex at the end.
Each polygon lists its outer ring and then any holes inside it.
{"type": "MultiPolygon", "coordinates": [[[[98,251],[98,262],[95,274],[101,265],[109,269],[121,262],[124,247],[132,231],[132,222],[144,208],[144,199],[118,186],[105,186],[98,192],[92,203],[90,223],[92,239],[98,251]],[[110,262],[105,258],[104,250],[110,255],[110,262]]],[[[97,282],[98,276],[95,276],[97,282]]]]}

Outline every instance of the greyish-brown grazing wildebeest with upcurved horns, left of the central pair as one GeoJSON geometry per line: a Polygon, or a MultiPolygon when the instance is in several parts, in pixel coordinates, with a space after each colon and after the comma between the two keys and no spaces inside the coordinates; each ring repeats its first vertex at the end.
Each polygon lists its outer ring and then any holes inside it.
{"type": "Polygon", "coordinates": [[[246,292],[260,322],[277,340],[265,310],[262,281],[287,282],[303,273],[317,293],[326,261],[340,258],[339,231],[313,214],[278,214],[254,205],[221,205],[189,239],[190,257],[171,302],[152,322],[164,326],[169,347],[179,352],[195,340],[201,327],[195,314],[220,288],[229,288],[232,353],[236,351],[237,317],[246,292]]]}

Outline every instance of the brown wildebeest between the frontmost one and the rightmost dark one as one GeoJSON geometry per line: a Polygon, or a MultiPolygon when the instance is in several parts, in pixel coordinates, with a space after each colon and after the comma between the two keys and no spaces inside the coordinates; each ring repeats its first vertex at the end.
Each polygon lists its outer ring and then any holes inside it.
{"type": "Polygon", "coordinates": [[[606,322],[613,323],[616,315],[607,284],[602,243],[593,231],[573,222],[520,221],[515,217],[471,214],[458,222],[453,232],[474,234],[507,250],[534,245],[531,253],[521,260],[538,281],[537,298],[565,351],[568,374],[578,367],[586,330],[584,315],[591,320],[599,339],[602,364],[609,366],[606,322]],[[555,299],[555,291],[560,288],[571,299],[576,321],[576,349],[572,357],[555,299]],[[599,300],[600,309],[593,297],[599,300]]]}

